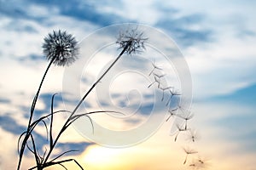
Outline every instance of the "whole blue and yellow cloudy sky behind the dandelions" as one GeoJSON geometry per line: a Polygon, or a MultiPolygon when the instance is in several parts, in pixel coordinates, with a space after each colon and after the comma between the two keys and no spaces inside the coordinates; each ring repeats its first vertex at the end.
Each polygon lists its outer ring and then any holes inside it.
{"type": "MultiPolygon", "coordinates": [[[[94,134],[88,134],[90,121],[83,117],[67,129],[54,155],[79,150],[66,158],[75,158],[90,170],[255,170],[255,5],[254,1],[239,0],[0,0],[0,169],[16,168],[17,141],[26,130],[33,96],[48,65],[42,49],[44,37],[53,30],[67,31],[79,42],[80,54],[70,67],[50,68],[35,118],[49,113],[55,93],[56,110],[73,108],[84,88],[90,88],[118,55],[114,42],[118,28],[123,26],[119,24],[135,23],[148,37],[146,51],[122,58],[83,105],[89,111],[122,111],[128,115],[90,116],[96,126],[94,134]],[[171,51],[171,62],[166,62],[163,54],[171,51]],[[178,59],[185,66],[177,65],[178,59]],[[183,86],[191,90],[192,102],[188,105],[194,117],[189,127],[199,136],[195,142],[189,141],[187,133],[174,141],[172,127],[177,120],[172,117],[166,122],[168,111],[166,99],[160,99],[162,91],[156,84],[147,88],[154,82],[148,76],[154,62],[164,68],[167,84],[181,92],[183,86]],[[180,68],[189,71],[185,82],[180,68]],[[157,113],[148,116],[153,106],[157,113]],[[139,131],[143,122],[147,126],[139,131]],[[110,133],[104,134],[101,127],[110,133]],[[88,138],[84,138],[84,132],[88,138]],[[117,145],[120,147],[113,147],[117,145]],[[183,164],[183,148],[188,147],[198,153],[189,155],[183,164]]],[[[54,135],[66,118],[56,115],[54,135]]],[[[47,143],[43,124],[34,136],[38,150],[44,152],[47,143]]],[[[21,169],[34,163],[26,150],[21,169]]],[[[65,166],[78,168],[73,161],[65,166]]]]}

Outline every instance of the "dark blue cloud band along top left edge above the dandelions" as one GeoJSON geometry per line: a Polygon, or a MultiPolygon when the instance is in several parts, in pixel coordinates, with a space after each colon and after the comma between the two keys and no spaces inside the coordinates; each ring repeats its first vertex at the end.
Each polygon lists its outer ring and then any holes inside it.
{"type": "Polygon", "coordinates": [[[123,20],[117,14],[102,13],[101,10],[98,11],[96,9],[96,5],[98,4],[82,3],[78,0],[61,3],[55,0],[37,2],[26,0],[22,3],[14,0],[9,3],[2,3],[1,13],[15,19],[34,20],[41,22],[41,24],[46,24],[48,18],[54,17],[56,14],[72,17],[75,20],[89,21],[91,24],[98,26],[108,26],[123,20]]]}

